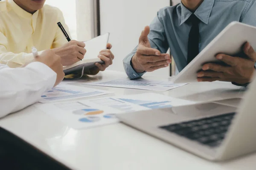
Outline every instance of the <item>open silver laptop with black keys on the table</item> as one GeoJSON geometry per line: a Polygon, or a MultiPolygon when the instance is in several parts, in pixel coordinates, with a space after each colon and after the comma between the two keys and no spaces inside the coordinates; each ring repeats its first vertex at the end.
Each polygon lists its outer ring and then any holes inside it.
{"type": "Polygon", "coordinates": [[[126,125],[212,161],[256,151],[256,79],[238,108],[217,103],[125,113],[126,125]]]}

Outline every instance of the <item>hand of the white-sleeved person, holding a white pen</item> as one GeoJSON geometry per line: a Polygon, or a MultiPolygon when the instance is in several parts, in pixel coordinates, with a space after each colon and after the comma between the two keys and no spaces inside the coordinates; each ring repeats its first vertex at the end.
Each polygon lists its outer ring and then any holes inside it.
{"type": "Polygon", "coordinates": [[[56,55],[53,50],[45,50],[41,55],[35,57],[34,61],[44,63],[57,74],[54,86],[58,85],[64,79],[65,74],[61,64],[61,57],[56,55]]]}

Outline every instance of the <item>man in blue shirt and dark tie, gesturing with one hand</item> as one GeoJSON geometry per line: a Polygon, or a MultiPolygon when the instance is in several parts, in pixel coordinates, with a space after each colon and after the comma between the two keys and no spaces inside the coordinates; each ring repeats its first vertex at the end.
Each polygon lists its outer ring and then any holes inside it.
{"type": "MultiPolygon", "coordinates": [[[[160,9],[150,26],[146,26],[139,45],[125,59],[130,79],[146,71],[167,67],[170,48],[178,71],[211,42],[229,23],[239,21],[256,26],[256,0],[181,0],[176,6],[160,9]]],[[[198,82],[229,81],[237,85],[250,82],[255,72],[256,52],[246,43],[248,59],[218,54],[227,66],[208,63],[198,73],[198,82]]]]}

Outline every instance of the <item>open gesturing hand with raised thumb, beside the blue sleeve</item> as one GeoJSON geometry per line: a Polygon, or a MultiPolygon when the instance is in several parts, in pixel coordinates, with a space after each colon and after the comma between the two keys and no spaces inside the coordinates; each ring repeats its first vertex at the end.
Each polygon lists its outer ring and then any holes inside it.
{"type": "Polygon", "coordinates": [[[149,32],[150,28],[146,26],[140,35],[136,54],[131,59],[137,73],[165,68],[172,62],[170,54],[161,54],[159,50],[151,48],[148,40],[149,32]]]}

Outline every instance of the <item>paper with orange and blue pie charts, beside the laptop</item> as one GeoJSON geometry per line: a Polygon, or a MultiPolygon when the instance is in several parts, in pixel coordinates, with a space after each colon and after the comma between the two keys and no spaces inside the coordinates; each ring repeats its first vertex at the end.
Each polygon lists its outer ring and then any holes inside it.
{"type": "Polygon", "coordinates": [[[194,102],[160,94],[136,94],[74,102],[38,103],[35,107],[75,129],[119,122],[116,114],[189,105],[194,102]]]}

